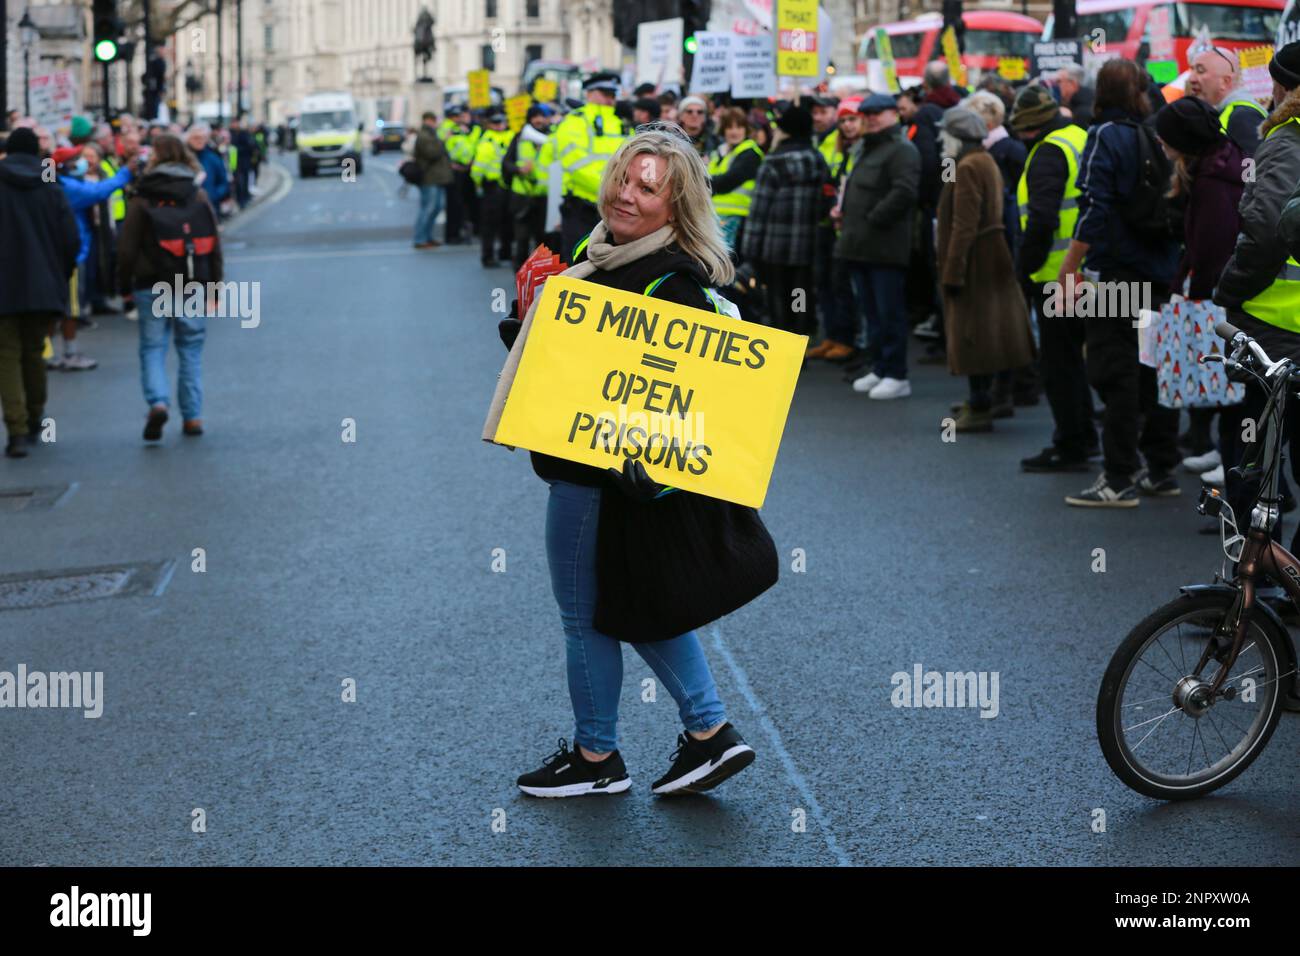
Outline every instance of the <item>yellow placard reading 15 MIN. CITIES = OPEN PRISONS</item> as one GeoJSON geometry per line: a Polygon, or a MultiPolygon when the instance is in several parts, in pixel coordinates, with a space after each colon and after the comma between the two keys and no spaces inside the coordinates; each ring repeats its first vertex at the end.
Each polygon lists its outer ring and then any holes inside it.
{"type": "Polygon", "coordinates": [[[490,438],[598,468],[638,459],[660,484],[762,507],[806,346],[552,276],[490,438]]]}

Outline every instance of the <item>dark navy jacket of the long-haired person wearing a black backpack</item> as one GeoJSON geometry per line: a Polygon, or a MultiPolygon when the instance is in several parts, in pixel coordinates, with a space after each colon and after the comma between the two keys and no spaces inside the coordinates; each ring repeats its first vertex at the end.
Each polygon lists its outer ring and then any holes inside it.
{"type": "Polygon", "coordinates": [[[1074,238],[1088,243],[1083,264],[1102,273],[1136,273],[1169,285],[1178,268],[1174,239],[1152,242],[1136,235],[1119,216],[1119,207],[1138,186],[1138,130],[1121,121],[1140,122],[1122,109],[1108,109],[1088,127],[1079,161],[1079,221],[1074,238]]]}

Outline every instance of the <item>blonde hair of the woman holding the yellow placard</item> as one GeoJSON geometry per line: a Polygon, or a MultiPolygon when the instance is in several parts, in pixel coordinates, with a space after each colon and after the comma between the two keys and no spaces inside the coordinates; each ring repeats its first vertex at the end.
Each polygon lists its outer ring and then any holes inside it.
{"type": "Polygon", "coordinates": [[[601,217],[618,200],[632,161],[645,155],[663,156],[667,164],[663,189],[668,190],[673,241],[682,252],[699,263],[708,281],[718,286],[731,285],[736,278],[736,269],[723,241],[718,213],[714,212],[708,168],[686,133],[676,124],[642,126],[636,135],[624,140],[601,179],[601,217]]]}

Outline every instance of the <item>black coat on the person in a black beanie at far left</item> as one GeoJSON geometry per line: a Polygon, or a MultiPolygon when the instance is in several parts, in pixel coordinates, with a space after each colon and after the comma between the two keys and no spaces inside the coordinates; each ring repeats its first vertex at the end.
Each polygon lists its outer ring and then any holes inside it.
{"type": "Polygon", "coordinates": [[[40,178],[40,160],[0,160],[0,315],[68,313],[81,239],[68,196],[40,178]]]}

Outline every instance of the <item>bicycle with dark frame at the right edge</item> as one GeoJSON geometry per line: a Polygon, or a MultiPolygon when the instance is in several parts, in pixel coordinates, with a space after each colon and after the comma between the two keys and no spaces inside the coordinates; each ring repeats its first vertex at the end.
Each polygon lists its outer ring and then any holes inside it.
{"type": "Polygon", "coordinates": [[[1223,363],[1230,380],[1257,381],[1268,394],[1262,447],[1234,470],[1253,499],[1251,524],[1243,533],[1223,496],[1201,489],[1196,510],[1219,520],[1223,568],[1213,584],[1183,587],[1143,619],[1110,658],[1097,693],[1097,740],[1110,769],[1162,800],[1225,786],[1260,756],[1282,710],[1300,709],[1291,635],[1257,600],[1261,583],[1271,580],[1300,606],[1300,559],[1271,540],[1280,516],[1283,414],[1288,393],[1300,388],[1300,365],[1273,362],[1226,321],[1214,330],[1231,354],[1204,360],[1223,363]]]}

